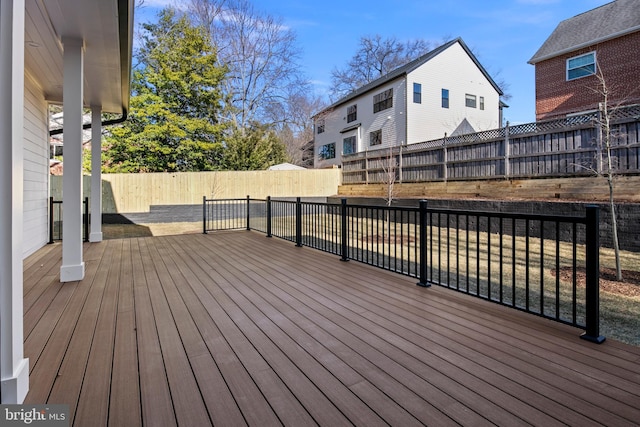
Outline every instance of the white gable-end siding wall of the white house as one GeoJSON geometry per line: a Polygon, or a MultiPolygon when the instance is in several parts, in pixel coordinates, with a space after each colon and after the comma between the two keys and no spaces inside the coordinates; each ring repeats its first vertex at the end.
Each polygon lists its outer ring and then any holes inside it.
{"type": "Polygon", "coordinates": [[[407,86],[409,144],[451,135],[465,118],[476,131],[500,127],[498,92],[459,43],[412,71],[407,86]],[[421,104],[413,102],[413,83],[422,85],[421,104]],[[448,109],[442,108],[442,89],[449,89],[448,109]],[[465,106],[465,94],[476,96],[476,108],[465,106]]]}

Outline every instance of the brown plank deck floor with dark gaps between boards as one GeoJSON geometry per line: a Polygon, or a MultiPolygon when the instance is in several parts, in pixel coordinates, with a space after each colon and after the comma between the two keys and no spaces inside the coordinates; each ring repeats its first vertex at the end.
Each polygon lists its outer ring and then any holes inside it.
{"type": "Polygon", "coordinates": [[[254,232],[25,261],[25,403],[80,426],[633,425],[640,348],[254,232]]]}

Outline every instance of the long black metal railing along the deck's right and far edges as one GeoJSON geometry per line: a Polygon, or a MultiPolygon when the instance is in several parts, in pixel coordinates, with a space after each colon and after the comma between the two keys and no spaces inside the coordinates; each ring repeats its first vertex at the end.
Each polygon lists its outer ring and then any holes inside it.
{"type": "Polygon", "coordinates": [[[396,207],[247,197],[205,198],[203,213],[205,233],[257,230],[415,277],[421,286],[444,286],[581,327],[583,338],[604,340],[597,206],[587,206],[580,217],[431,209],[426,201],[396,207]]]}

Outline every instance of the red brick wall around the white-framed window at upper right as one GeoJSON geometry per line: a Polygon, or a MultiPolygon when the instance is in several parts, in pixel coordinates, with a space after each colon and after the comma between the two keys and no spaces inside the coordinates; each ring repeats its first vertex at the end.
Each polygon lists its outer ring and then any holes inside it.
{"type": "Polygon", "coordinates": [[[612,105],[640,103],[640,31],[536,64],[536,119],[594,110],[602,101],[596,76],[567,81],[567,59],[596,52],[612,105]]]}

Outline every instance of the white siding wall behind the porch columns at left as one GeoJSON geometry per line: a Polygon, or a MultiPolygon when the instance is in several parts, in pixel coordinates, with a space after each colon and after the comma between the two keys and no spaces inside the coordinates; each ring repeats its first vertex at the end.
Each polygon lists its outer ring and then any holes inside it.
{"type": "Polygon", "coordinates": [[[26,75],[24,88],[24,257],[31,255],[48,241],[48,195],[47,103],[38,85],[26,75]]]}

